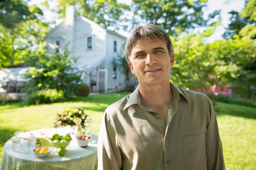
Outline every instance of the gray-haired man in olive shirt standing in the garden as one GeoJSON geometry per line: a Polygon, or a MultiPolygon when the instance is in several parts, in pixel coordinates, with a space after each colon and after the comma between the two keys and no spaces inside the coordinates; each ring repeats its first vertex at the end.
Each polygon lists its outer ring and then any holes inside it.
{"type": "Polygon", "coordinates": [[[125,53],[139,86],[103,115],[98,170],[225,170],[210,99],[169,81],[169,35],[156,25],[136,26],[125,53]]]}

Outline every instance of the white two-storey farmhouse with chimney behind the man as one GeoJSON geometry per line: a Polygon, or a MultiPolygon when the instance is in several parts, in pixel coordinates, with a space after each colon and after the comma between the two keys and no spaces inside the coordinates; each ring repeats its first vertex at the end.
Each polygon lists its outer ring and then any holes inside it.
{"type": "Polygon", "coordinates": [[[63,51],[69,43],[70,51],[78,58],[78,68],[88,68],[90,75],[83,77],[92,92],[106,93],[125,88],[125,76],[113,64],[113,57],[122,51],[126,37],[103,28],[77,15],[74,6],[66,8],[66,17],[46,37],[51,53],[63,51]]]}

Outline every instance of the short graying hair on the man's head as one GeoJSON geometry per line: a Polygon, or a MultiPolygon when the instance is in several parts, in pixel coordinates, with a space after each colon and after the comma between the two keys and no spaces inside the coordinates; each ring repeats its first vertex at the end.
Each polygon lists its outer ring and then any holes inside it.
{"type": "Polygon", "coordinates": [[[130,55],[135,42],[142,38],[148,38],[150,40],[160,38],[162,41],[167,43],[170,57],[173,55],[173,43],[171,42],[170,35],[166,33],[164,29],[154,24],[141,24],[132,29],[129,37],[126,40],[124,50],[127,62],[130,62],[130,55]]]}

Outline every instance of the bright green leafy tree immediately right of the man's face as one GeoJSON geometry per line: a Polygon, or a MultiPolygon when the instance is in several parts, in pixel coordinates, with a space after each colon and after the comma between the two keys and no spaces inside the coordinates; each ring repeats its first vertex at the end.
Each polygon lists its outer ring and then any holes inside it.
{"type": "Polygon", "coordinates": [[[208,55],[209,47],[204,36],[189,33],[171,39],[175,49],[175,64],[171,70],[173,83],[182,88],[206,92],[216,79],[209,77],[215,73],[213,58],[208,55]]]}

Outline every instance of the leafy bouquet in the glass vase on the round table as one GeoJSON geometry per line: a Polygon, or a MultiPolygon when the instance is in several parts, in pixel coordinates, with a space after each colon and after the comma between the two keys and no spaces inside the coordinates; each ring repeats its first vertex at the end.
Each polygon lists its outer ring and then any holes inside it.
{"type": "Polygon", "coordinates": [[[75,109],[65,109],[63,113],[57,114],[56,116],[56,122],[54,126],[57,127],[63,127],[63,126],[75,126],[75,121],[77,119],[81,119],[81,125],[84,128],[85,120],[88,115],[84,113],[84,109],[79,107],[75,109]]]}

